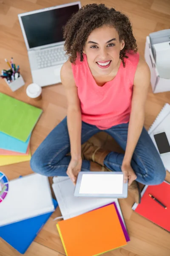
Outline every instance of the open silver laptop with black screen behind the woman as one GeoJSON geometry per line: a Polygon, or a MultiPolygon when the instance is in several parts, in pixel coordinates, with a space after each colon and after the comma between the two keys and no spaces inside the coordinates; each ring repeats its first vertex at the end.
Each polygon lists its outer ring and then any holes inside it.
{"type": "Polygon", "coordinates": [[[81,3],[74,2],[18,15],[33,83],[42,87],[61,82],[60,70],[68,60],[63,26],[80,8],[81,3]]]}

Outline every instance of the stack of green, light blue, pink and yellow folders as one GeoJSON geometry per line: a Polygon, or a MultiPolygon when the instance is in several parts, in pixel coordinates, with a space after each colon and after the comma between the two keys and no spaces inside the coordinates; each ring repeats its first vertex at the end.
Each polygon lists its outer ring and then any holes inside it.
{"type": "Polygon", "coordinates": [[[0,166],[31,159],[31,132],[42,110],[0,93],[0,166]]]}

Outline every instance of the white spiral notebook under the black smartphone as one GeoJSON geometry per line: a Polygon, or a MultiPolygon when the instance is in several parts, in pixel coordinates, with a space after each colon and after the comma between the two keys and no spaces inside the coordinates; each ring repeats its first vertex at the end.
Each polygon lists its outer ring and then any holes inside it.
{"type": "MultiPolygon", "coordinates": [[[[159,150],[156,145],[154,135],[161,132],[165,132],[167,140],[170,143],[170,104],[168,103],[166,103],[161,109],[160,113],[148,130],[148,133],[153,140],[153,143],[156,146],[158,152],[159,150]]],[[[160,154],[160,156],[165,168],[170,172],[170,152],[160,154]]]]}

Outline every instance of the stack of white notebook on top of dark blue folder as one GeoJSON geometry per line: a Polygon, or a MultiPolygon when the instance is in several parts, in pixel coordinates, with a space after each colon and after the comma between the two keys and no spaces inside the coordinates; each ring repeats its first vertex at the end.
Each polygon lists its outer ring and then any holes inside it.
{"type": "Polygon", "coordinates": [[[32,174],[9,181],[8,186],[0,204],[0,237],[25,253],[58,204],[51,197],[48,177],[32,174]]]}

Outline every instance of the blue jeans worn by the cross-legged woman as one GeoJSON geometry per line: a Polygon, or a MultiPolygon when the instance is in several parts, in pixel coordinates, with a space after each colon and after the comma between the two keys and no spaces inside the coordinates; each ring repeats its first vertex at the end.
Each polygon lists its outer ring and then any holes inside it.
{"type": "MultiPolygon", "coordinates": [[[[107,130],[114,140],[124,149],[127,143],[128,123],[115,125],[107,130]]],[[[94,134],[101,131],[95,125],[82,122],[82,144],[94,134]]],[[[45,176],[67,176],[66,171],[71,157],[70,139],[68,135],[67,117],[60,122],[37,148],[31,157],[31,169],[45,176]]],[[[112,171],[120,172],[124,154],[111,152],[104,160],[105,166],[112,171]]],[[[146,129],[142,129],[136,145],[131,166],[136,173],[137,181],[142,184],[156,185],[164,181],[166,171],[146,129]]],[[[82,161],[81,171],[90,171],[90,162],[82,161]]]]}

